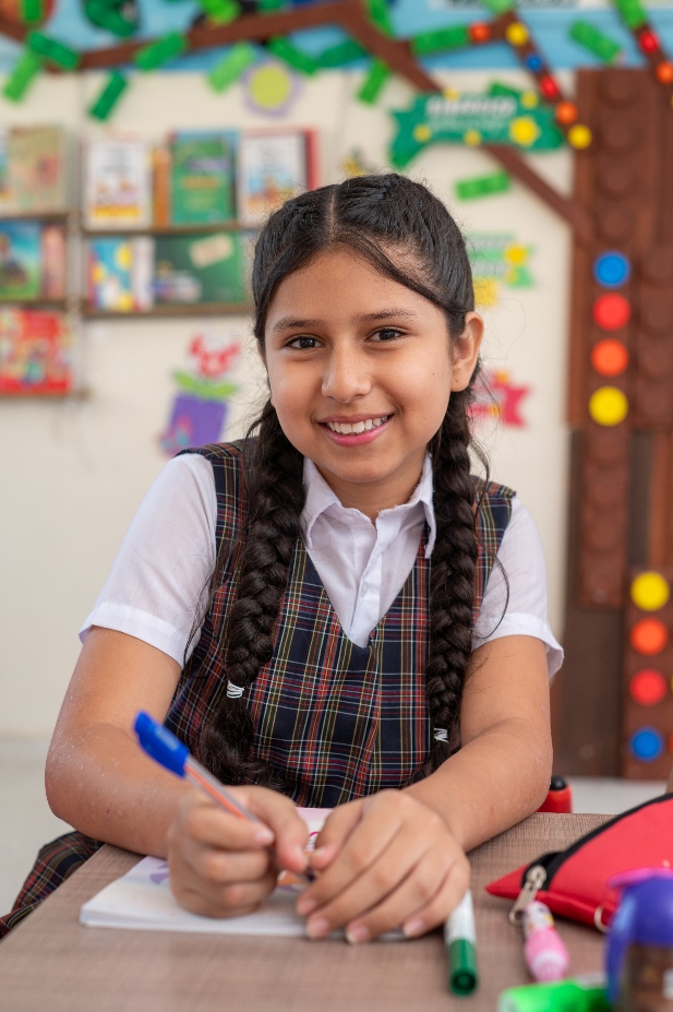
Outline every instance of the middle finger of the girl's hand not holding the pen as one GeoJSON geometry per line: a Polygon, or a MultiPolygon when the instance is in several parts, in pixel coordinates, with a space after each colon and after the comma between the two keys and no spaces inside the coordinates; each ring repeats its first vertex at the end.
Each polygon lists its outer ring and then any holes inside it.
{"type": "MultiPolygon", "coordinates": [[[[328,934],[353,918],[361,919],[368,910],[378,907],[408,876],[416,874],[417,866],[422,861],[428,848],[429,842],[424,834],[417,833],[408,826],[401,830],[362,874],[350,881],[331,902],[320,906],[312,914],[307,925],[309,934],[312,938],[328,934]]],[[[450,859],[442,855],[438,848],[433,849],[438,856],[436,864],[442,866],[444,878],[450,859]]],[[[337,858],[337,862],[340,860],[341,856],[337,858]]],[[[436,879],[434,881],[436,883],[436,879]]],[[[420,902],[417,902],[406,913],[411,913],[419,906],[420,902]]]]}

